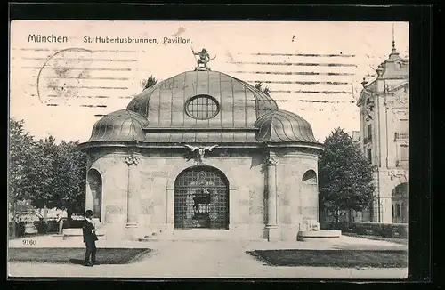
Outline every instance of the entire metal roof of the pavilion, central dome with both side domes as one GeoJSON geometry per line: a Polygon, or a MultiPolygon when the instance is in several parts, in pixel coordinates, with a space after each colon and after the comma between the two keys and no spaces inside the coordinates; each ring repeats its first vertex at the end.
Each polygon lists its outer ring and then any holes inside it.
{"type": "MultiPolygon", "coordinates": [[[[142,91],[93,125],[83,146],[259,142],[317,143],[311,125],[253,85],[210,70],[186,71],[142,91]]],[[[157,145],[157,146],[158,146],[157,145]]]]}

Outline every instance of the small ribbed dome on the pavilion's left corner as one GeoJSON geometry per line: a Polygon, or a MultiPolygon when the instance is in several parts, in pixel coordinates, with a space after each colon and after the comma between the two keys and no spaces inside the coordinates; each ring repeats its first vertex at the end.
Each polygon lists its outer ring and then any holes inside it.
{"type": "Polygon", "coordinates": [[[102,117],[93,125],[88,142],[94,141],[144,141],[142,127],[149,121],[133,111],[121,109],[102,117]]]}

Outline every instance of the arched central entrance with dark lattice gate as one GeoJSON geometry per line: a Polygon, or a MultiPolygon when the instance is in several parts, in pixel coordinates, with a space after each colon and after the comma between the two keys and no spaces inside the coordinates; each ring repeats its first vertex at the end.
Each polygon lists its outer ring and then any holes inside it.
{"type": "Polygon", "coordinates": [[[229,181],[214,167],[194,166],[174,181],[175,229],[229,229],[229,181]]]}

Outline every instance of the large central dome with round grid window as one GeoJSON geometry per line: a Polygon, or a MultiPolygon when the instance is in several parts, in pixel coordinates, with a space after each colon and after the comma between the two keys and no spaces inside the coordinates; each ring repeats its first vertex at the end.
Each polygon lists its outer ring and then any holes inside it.
{"type": "Polygon", "coordinates": [[[149,127],[190,129],[251,128],[258,117],[279,108],[253,85],[222,72],[197,70],[153,85],[126,109],[150,120],[149,127]]]}

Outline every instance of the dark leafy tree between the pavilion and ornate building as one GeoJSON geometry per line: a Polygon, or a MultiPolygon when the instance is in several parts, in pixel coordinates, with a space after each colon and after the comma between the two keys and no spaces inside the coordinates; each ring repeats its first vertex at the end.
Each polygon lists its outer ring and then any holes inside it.
{"type": "Polygon", "coordinates": [[[326,138],[319,158],[320,204],[334,213],[336,223],[339,211],[361,211],[371,204],[373,172],[374,166],[343,129],[336,128],[326,138]]]}

